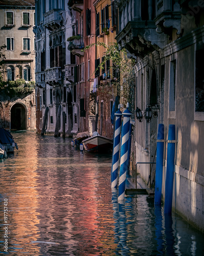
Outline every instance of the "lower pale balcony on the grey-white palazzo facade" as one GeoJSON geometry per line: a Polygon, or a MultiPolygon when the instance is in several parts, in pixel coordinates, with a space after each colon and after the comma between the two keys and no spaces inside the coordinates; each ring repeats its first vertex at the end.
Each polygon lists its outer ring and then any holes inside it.
{"type": "Polygon", "coordinates": [[[61,85],[62,70],[60,67],[45,70],[45,82],[51,82],[53,86],[61,85]]]}

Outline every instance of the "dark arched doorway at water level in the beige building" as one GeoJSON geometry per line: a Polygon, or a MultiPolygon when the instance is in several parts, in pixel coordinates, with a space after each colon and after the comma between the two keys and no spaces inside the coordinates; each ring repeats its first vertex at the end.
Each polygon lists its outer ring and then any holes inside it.
{"type": "Polygon", "coordinates": [[[11,130],[26,130],[26,111],[20,103],[11,107],[11,130]]]}

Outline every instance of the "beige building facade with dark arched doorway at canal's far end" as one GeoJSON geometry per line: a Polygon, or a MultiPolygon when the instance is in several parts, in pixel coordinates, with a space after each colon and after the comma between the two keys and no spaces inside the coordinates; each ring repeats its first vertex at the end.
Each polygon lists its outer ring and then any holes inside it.
{"type": "Polygon", "coordinates": [[[6,129],[35,130],[35,91],[28,89],[35,81],[35,1],[0,1],[0,24],[0,45],[6,46],[2,82],[22,87],[22,93],[12,96],[2,91],[0,123],[6,129]]]}

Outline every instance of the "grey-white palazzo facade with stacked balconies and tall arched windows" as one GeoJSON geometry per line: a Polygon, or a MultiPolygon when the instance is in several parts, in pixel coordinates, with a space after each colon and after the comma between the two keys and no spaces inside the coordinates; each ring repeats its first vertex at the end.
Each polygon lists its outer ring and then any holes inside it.
{"type": "Polygon", "coordinates": [[[37,133],[73,128],[73,79],[75,56],[66,51],[72,33],[73,13],[63,0],[36,1],[36,121],[37,133]]]}

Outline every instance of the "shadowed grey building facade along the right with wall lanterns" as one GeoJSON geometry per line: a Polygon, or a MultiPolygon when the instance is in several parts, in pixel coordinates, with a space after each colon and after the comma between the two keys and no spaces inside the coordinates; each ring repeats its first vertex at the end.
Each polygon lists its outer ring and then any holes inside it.
{"type": "MultiPolygon", "coordinates": [[[[204,230],[203,218],[203,1],[117,1],[120,31],[116,40],[136,56],[135,105],[151,121],[133,120],[134,163],[155,162],[159,123],[165,139],[175,125],[174,210],[204,230]]],[[[165,201],[167,143],[163,163],[165,201]]],[[[154,166],[152,167],[154,170],[154,166]]],[[[149,167],[137,164],[147,182],[149,167]]],[[[151,181],[154,173],[151,174],[151,181]]]]}

